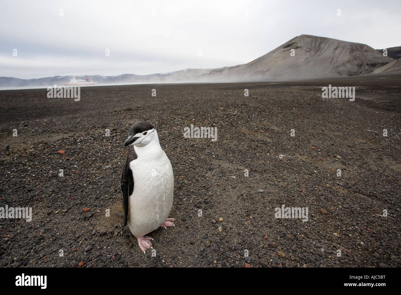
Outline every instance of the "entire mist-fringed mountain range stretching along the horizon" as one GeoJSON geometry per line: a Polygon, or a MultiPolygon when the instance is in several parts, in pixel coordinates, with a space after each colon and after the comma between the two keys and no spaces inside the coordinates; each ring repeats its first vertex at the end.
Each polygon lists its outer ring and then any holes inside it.
{"type": "MultiPolygon", "coordinates": [[[[88,75],[99,84],[113,83],[191,83],[234,82],[275,79],[311,79],[338,76],[389,73],[401,74],[396,59],[401,47],[383,49],[326,37],[300,35],[269,53],[242,65],[216,69],[184,69],[150,75],[122,74],[117,76],[88,75]],[[391,63],[391,64],[390,64],[391,63]],[[390,64],[390,65],[388,65],[390,64]]],[[[83,78],[85,76],[76,76],[83,78]]],[[[39,79],[0,77],[4,86],[63,86],[72,76],[54,76],[39,79]]]]}

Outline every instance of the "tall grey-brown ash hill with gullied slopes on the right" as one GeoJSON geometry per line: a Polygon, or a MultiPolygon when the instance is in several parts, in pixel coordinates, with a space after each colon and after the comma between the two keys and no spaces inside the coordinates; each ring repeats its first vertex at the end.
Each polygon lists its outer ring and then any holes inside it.
{"type": "Polygon", "coordinates": [[[225,75],[242,79],[352,76],[392,61],[365,44],[300,35],[250,63],[227,69],[225,75]],[[292,49],[295,56],[291,56],[292,49]]]}

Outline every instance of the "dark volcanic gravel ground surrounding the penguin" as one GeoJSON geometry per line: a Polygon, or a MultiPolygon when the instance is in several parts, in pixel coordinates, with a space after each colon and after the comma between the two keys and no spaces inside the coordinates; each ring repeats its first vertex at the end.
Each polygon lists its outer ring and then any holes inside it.
{"type": "Polygon", "coordinates": [[[0,105],[0,207],[33,215],[0,220],[2,267],[401,266],[399,77],[87,87],[79,102],[13,90],[0,105]],[[328,84],[356,86],[356,100],[323,99],[328,84]],[[136,120],[156,126],[176,177],[176,227],[151,233],[156,257],[105,217],[122,211],[136,120]],[[217,141],[184,138],[190,124],[217,127],[217,141]],[[275,219],[282,204],[309,220],[275,219]]]}

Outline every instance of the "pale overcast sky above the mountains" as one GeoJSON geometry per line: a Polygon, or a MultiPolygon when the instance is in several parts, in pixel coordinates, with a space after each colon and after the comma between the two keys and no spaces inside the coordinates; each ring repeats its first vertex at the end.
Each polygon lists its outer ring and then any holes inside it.
{"type": "Polygon", "coordinates": [[[0,76],[232,66],[302,34],[382,49],[401,45],[400,10],[397,0],[0,0],[0,76]]]}

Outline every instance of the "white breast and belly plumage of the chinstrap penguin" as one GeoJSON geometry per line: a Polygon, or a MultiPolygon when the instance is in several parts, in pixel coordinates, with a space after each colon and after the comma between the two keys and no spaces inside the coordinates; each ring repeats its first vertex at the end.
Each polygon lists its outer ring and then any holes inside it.
{"type": "Polygon", "coordinates": [[[141,237],[156,230],[168,218],[173,203],[174,175],[171,163],[160,148],[151,157],[131,161],[134,191],[130,195],[128,226],[141,237]]]}

